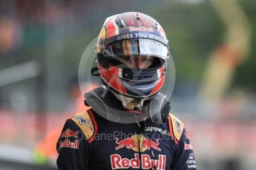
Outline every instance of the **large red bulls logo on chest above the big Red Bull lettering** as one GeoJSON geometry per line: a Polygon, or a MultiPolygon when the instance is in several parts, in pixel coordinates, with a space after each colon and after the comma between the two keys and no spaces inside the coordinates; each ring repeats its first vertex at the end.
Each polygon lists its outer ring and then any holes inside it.
{"type": "Polygon", "coordinates": [[[135,152],[145,152],[145,150],[155,149],[157,151],[161,151],[159,147],[159,139],[154,142],[153,140],[144,137],[143,135],[133,135],[131,137],[125,138],[124,140],[120,140],[116,137],[116,150],[126,148],[133,149],[135,152]],[[140,147],[139,147],[140,146],[140,147]]]}

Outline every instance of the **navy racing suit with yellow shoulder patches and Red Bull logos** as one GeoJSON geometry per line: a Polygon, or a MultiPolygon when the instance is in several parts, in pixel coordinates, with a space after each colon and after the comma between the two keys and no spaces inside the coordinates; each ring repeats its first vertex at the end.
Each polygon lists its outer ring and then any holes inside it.
{"type": "Polygon", "coordinates": [[[162,124],[126,124],[88,109],[66,121],[56,147],[59,170],[196,169],[188,133],[172,114],[162,124]]]}

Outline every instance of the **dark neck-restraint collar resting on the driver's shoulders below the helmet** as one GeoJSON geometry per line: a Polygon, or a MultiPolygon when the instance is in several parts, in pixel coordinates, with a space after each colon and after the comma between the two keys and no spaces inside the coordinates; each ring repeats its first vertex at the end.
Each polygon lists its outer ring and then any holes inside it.
{"type": "Polygon", "coordinates": [[[103,87],[85,93],[85,105],[91,106],[93,111],[103,118],[116,123],[136,123],[151,118],[154,123],[167,121],[171,109],[170,102],[165,95],[158,92],[144,102],[141,113],[134,113],[123,108],[121,101],[103,87]]]}

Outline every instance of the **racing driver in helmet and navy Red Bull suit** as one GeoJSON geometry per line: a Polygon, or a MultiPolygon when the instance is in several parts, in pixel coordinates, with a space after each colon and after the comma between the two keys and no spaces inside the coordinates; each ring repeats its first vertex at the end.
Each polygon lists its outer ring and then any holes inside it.
{"type": "Polygon", "coordinates": [[[143,13],[106,18],[96,44],[102,86],[85,92],[88,109],[65,123],[59,170],[196,169],[181,120],[160,92],[169,58],[163,27],[143,13]]]}

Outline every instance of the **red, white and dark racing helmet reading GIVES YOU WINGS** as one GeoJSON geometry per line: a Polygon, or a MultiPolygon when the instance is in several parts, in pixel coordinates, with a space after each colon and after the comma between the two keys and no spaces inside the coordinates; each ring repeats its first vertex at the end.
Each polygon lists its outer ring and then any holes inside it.
{"type": "Polygon", "coordinates": [[[105,85],[131,98],[148,98],[160,91],[167,69],[168,40],[163,27],[143,13],[108,17],[96,44],[99,75],[105,85]],[[147,69],[125,67],[128,55],[150,56],[147,69]]]}

